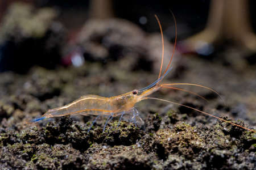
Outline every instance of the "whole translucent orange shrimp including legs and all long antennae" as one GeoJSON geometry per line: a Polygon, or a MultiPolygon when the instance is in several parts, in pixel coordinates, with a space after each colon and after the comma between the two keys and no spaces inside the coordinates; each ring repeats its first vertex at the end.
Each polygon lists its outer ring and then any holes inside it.
{"type": "MultiPolygon", "coordinates": [[[[72,103],[69,103],[67,105],[64,105],[62,107],[58,107],[58,108],[55,108],[55,109],[49,109],[45,114],[43,114],[42,117],[35,118],[31,122],[38,122],[38,121],[43,120],[45,118],[61,117],[61,116],[68,116],[68,115],[77,115],[77,114],[84,115],[84,116],[93,115],[93,116],[96,116],[96,118],[94,119],[94,121],[92,122],[92,124],[90,126],[90,128],[92,128],[94,122],[97,120],[98,117],[108,116],[108,118],[105,122],[105,125],[104,125],[104,129],[103,129],[103,131],[104,131],[105,128],[106,128],[106,125],[108,124],[108,122],[110,120],[112,120],[113,117],[118,117],[119,116],[119,122],[118,122],[118,125],[117,125],[117,126],[119,126],[119,123],[122,120],[123,115],[124,114],[131,114],[131,120],[136,125],[136,118],[139,117],[139,112],[137,111],[137,109],[135,109],[134,105],[137,104],[139,101],[146,100],[146,99],[152,99],[152,100],[160,100],[160,101],[165,101],[167,103],[172,103],[172,104],[180,105],[180,106],[183,106],[183,107],[187,107],[189,109],[193,109],[197,112],[206,114],[210,117],[217,118],[218,120],[227,122],[227,123],[232,124],[234,126],[238,126],[240,128],[256,132],[253,129],[245,128],[244,126],[234,124],[233,122],[226,121],[223,118],[214,116],[213,114],[210,114],[210,113],[207,113],[207,112],[200,111],[198,109],[189,107],[187,105],[175,103],[173,101],[168,101],[168,100],[164,100],[164,99],[158,99],[158,98],[155,98],[155,97],[148,97],[149,95],[151,95],[154,92],[160,90],[161,88],[171,88],[171,89],[175,89],[175,90],[181,90],[181,91],[189,92],[190,94],[199,96],[202,99],[206,100],[203,96],[197,95],[194,92],[184,90],[183,88],[172,87],[172,86],[175,86],[175,85],[197,86],[197,87],[201,87],[201,88],[205,88],[207,90],[210,90],[210,91],[214,92],[215,94],[217,94],[218,96],[220,96],[212,88],[205,87],[205,86],[202,86],[200,84],[192,84],[192,83],[159,84],[160,82],[162,82],[164,77],[172,69],[172,67],[170,67],[170,66],[171,66],[172,58],[174,57],[174,52],[175,52],[175,48],[176,48],[176,44],[177,44],[176,19],[175,19],[175,16],[172,12],[171,12],[171,14],[172,14],[172,16],[174,18],[174,22],[175,22],[175,42],[174,42],[174,49],[172,51],[172,56],[170,58],[168,66],[167,66],[166,70],[164,71],[163,75],[161,75],[162,67],[163,67],[163,58],[164,58],[163,31],[162,31],[162,25],[160,24],[158,16],[155,15],[155,18],[156,18],[156,20],[159,24],[159,27],[160,27],[160,33],[161,33],[161,38],[162,38],[162,62],[161,62],[161,66],[160,66],[158,79],[156,79],[155,82],[151,83],[147,87],[141,88],[140,90],[133,90],[133,91],[127,92],[126,94],[122,94],[122,95],[119,95],[119,96],[113,96],[113,97],[102,97],[102,96],[97,96],[97,95],[81,96],[79,99],[73,101],[72,103]]],[[[142,121],[141,117],[139,117],[139,119],[142,121]]],[[[89,130],[90,130],[90,128],[89,128],[89,130]]]]}

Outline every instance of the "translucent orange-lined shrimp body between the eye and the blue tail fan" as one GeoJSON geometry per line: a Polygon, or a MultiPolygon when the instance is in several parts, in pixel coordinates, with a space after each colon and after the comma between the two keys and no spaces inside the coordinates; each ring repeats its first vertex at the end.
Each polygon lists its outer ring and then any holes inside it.
{"type": "Polygon", "coordinates": [[[119,112],[129,111],[130,107],[133,107],[136,103],[133,102],[133,96],[133,92],[113,97],[85,95],[63,107],[49,109],[43,117],[50,118],[76,114],[82,114],[84,116],[115,116],[119,112]]]}

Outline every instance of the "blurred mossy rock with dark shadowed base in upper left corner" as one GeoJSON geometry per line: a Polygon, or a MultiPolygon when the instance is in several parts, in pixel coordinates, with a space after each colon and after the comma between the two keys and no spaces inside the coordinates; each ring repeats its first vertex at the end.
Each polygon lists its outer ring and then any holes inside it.
{"type": "Polygon", "coordinates": [[[60,63],[65,29],[53,8],[11,4],[0,23],[0,71],[26,73],[33,65],[53,69],[60,63]]]}

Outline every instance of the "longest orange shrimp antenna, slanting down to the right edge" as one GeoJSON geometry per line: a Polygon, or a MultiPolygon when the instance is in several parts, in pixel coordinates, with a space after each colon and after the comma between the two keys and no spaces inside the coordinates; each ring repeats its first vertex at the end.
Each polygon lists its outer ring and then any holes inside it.
{"type": "Polygon", "coordinates": [[[176,103],[176,102],[174,102],[174,101],[169,101],[169,100],[164,100],[164,99],[158,99],[158,98],[155,98],[155,97],[145,97],[144,99],[154,99],[154,100],[166,101],[166,102],[168,102],[168,103],[172,103],[172,104],[180,105],[180,106],[183,106],[183,107],[186,107],[186,108],[192,109],[192,110],[194,110],[194,111],[197,111],[197,112],[200,112],[200,113],[206,114],[206,115],[208,115],[208,116],[210,116],[210,117],[217,118],[218,120],[224,121],[224,122],[226,122],[226,123],[228,123],[228,124],[232,124],[232,125],[234,125],[234,126],[240,127],[240,128],[242,128],[242,129],[245,129],[245,130],[253,131],[254,133],[256,133],[256,131],[255,131],[255,130],[253,130],[253,129],[245,128],[244,126],[241,126],[241,125],[235,124],[235,123],[233,123],[233,122],[227,121],[227,120],[225,120],[225,119],[223,119],[223,118],[220,118],[220,117],[214,116],[213,114],[210,114],[210,113],[207,113],[207,112],[200,111],[199,109],[189,107],[188,105],[179,104],[179,103],[176,103]]]}

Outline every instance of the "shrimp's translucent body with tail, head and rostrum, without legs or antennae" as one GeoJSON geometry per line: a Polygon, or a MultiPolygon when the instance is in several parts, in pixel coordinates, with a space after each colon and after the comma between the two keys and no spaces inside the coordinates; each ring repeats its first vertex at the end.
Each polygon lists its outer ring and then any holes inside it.
{"type": "Polygon", "coordinates": [[[136,103],[143,100],[144,97],[159,90],[160,87],[155,86],[156,83],[159,82],[159,80],[160,79],[158,79],[158,81],[152,83],[146,88],[142,88],[142,90],[133,90],[119,96],[81,96],[79,99],[73,101],[72,103],[55,109],[49,109],[45,114],[43,114],[41,118],[36,118],[32,120],[32,122],[37,122],[43,120],[44,118],[61,117],[76,114],[82,114],[84,116],[119,116],[119,113],[121,112],[130,112],[131,109],[134,109],[134,105],[136,103]]]}

